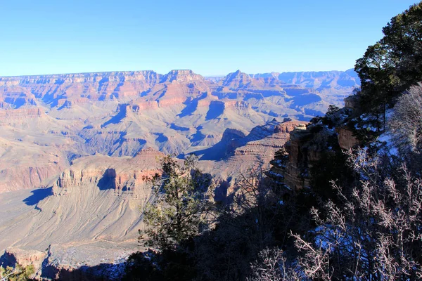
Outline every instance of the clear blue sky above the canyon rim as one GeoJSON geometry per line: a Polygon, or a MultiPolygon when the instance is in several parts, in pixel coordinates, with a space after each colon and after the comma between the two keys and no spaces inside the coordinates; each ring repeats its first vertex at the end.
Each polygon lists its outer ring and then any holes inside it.
{"type": "Polygon", "coordinates": [[[0,0],[0,76],[347,70],[410,0],[0,0]]]}

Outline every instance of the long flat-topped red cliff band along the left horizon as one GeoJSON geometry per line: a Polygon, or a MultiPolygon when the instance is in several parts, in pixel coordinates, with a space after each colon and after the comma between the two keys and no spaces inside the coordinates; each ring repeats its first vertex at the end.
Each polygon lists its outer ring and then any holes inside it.
{"type": "Polygon", "coordinates": [[[0,92],[15,107],[35,105],[36,99],[53,106],[63,104],[63,99],[125,100],[151,89],[161,78],[162,75],[153,71],[0,77],[0,92]]]}

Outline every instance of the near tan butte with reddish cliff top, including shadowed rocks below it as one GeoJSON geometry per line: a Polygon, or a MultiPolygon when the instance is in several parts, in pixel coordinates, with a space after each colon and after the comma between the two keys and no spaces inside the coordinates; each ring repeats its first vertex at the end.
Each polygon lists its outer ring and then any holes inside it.
{"type": "Polygon", "coordinates": [[[82,157],[48,188],[1,194],[0,265],[33,265],[35,277],[52,279],[95,267],[119,280],[119,264],[139,249],[142,210],[155,198],[148,178],[161,173],[163,156],[146,148],[82,157]]]}

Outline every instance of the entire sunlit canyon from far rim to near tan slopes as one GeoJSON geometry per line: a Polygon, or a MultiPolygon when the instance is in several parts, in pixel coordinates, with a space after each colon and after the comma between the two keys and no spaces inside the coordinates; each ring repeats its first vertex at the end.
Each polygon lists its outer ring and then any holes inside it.
{"type": "Polygon", "coordinates": [[[195,153],[225,200],[357,87],[351,70],[0,77],[0,262],[34,264],[39,278],[118,266],[139,249],[162,157],[195,153]]]}

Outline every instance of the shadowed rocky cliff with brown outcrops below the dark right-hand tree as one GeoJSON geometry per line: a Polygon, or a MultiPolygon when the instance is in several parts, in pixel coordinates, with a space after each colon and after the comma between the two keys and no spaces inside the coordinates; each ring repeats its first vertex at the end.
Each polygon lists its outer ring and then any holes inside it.
{"type": "Polygon", "coordinates": [[[343,108],[333,115],[316,119],[307,126],[290,131],[290,140],[284,145],[282,155],[276,155],[267,176],[288,190],[311,187],[312,170],[323,155],[335,155],[359,144],[347,120],[351,108],[343,108]]]}

